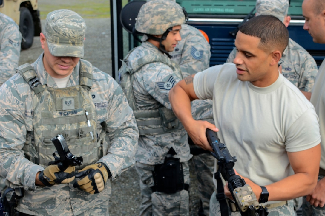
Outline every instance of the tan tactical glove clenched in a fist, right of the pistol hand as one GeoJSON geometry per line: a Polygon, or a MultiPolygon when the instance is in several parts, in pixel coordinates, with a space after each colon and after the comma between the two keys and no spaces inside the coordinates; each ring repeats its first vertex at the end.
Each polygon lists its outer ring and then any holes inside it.
{"type": "Polygon", "coordinates": [[[75,182],[74,187],[80,187],[90,194],[97,194],[104,190],[105,183],[112,174],[104,163],[98,162],[79,170],[75,177],[82,179],[75,182]]]}

